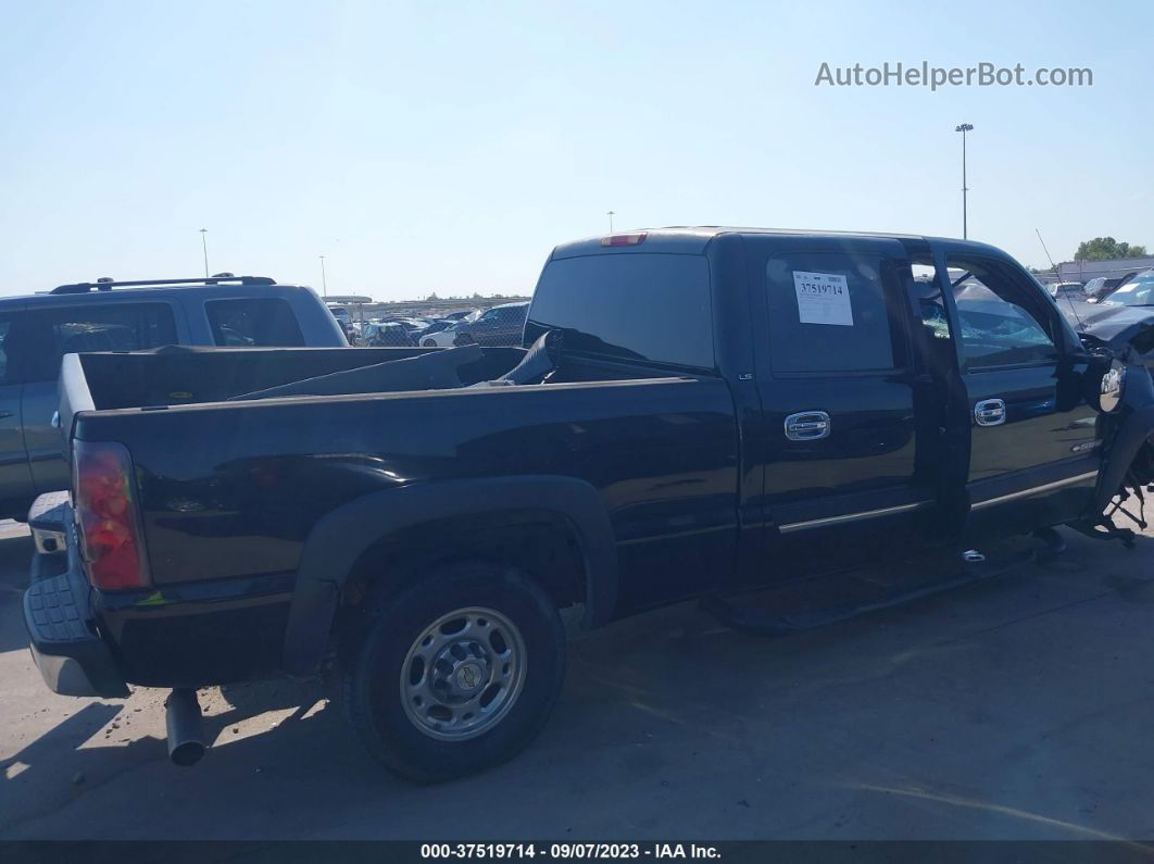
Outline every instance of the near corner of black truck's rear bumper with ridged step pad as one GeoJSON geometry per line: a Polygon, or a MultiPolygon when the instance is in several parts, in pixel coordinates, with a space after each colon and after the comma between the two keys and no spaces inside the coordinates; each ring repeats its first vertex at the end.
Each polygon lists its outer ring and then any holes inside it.
{"type": "Polygon", "coordinates": [[[24,592],[24,626],[32,660],[54,693],[123,698],[128,686],[108,646],[97,634],[89,593],[87,580],[70,568],[33,581],[24,592]]]}

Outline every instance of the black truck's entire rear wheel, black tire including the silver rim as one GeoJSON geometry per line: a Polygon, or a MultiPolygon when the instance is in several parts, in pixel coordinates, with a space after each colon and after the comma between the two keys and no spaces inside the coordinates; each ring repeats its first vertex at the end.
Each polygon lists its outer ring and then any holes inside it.
{"type": "Polygon", "coordinates": [[[564,663],[561,617],[540,586],[510,568],[451,564],[370,601],[343,663],[342,701],[377,760],[434,783],[529,744],[556,704],[564,663]]]}

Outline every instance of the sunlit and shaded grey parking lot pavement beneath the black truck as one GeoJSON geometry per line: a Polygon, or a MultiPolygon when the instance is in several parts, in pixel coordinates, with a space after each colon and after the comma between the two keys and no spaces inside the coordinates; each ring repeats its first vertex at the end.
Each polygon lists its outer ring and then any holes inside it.
{"type": "Polygon", "coordinates": [[[168,764],[164,694],[48,693],[24,647],[30,541],[0,534],[0,835],[61,839],[1101,839],[1154,835],[1154,536],[1070,549],[790,639],[682,604],[572,647],[520,757],[414,787],[319,689],[203,691],[215,747],[168,764]]]}

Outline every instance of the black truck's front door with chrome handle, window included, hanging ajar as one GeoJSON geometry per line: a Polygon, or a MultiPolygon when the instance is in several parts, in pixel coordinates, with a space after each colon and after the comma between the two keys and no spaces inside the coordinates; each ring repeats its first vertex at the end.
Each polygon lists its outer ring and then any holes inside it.
{"type": "Polygon", "coordinates": [[[1027,531],[1077,517],[1100,463],[1097,414],[1074,337],[1016,263],[972,247],[939,253],[971,412],[969,528],[1027,531]]]}

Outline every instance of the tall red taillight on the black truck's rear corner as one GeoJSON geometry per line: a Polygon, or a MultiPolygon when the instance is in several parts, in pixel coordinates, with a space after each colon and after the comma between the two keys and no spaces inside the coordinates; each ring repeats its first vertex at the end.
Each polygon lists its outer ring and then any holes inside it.
{"type": "Polygon", "coordinates": [[[149,584],[133,463],[122,444],[73,441],[73,506],[92,585],[104,591],[149,584]]]}

